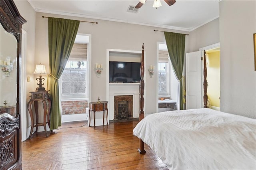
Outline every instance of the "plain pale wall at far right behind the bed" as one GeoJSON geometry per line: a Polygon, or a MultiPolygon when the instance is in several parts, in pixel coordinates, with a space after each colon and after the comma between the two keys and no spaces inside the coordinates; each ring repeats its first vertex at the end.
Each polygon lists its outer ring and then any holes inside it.
{"type": "Polygon", "coordinates": [[[256,1],[220,2],[220,110],[256,118],[256,1]]]}

